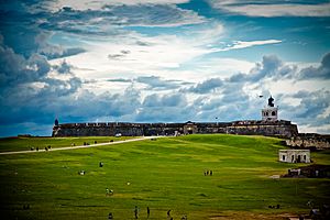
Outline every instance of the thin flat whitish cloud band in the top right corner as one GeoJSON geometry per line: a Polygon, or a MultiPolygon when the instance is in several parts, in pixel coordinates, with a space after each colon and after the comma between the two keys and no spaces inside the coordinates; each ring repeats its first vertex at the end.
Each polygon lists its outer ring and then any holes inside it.
{"type": "Polygon", "coordinates": [[[241,2],[210,0],[213,8],[248,16],[330,16],[330,3],[272,3],[268,1],[241,2]]]}

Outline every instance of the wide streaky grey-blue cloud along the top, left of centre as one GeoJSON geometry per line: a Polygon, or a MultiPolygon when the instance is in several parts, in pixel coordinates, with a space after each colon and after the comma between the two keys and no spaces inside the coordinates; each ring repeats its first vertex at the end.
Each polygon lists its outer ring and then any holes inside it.
{"type": "Polygon", "coordinates": [[[206,22],[204,16],[174,4],[105,6],[95,10],[63,8],[45,13],[40,26],[50,31],[74,34],[116,35],[124,26],[182,26],[206,22]]]}

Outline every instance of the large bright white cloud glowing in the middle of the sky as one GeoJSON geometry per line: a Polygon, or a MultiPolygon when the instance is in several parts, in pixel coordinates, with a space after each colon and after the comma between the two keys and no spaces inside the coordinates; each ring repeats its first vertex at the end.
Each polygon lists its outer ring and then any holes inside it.
{"type": "MultiPolygon", "coordinates": [[[[205,31],[208,37],[205,32],[157,36],[127,32],[111,38],[96,37],[95,41],[84,42],[86,53],[66,57],[66,61],[77,67],[74,68],[75,74],[84,79],[132,79],[151,75],[178,80],[199,75],[200,79],[202,75],[194,73],[195,70],[178,68],[197,57],[212,53],[207,45],[219,40],[223,28],[217,23],[205,31]]],[[[61,62],[62,59],[54,59],[52,64],[61,62]]]]}

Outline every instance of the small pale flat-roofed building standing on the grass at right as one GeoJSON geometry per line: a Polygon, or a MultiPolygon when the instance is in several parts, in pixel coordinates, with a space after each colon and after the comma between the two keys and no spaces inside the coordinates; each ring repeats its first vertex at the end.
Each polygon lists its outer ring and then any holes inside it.
{"type": "Polygon", "coordinates": [[[279,162],[285,163],[310,163],[309,150],[279,150],[279,162]]]}

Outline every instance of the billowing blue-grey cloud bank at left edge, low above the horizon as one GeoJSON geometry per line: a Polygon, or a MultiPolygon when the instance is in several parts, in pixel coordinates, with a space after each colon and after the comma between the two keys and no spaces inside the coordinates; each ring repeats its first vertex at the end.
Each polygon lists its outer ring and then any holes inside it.
{"type": "Polygon", "coordinates": [[[0,45],[1,123],[45,122],[54,116],[50,106],[76,94],[81,80],[65,62],[52,66],[45,56],[36,53],[25,58],[3,42],[0,45]]]}

